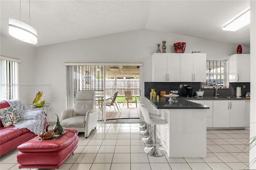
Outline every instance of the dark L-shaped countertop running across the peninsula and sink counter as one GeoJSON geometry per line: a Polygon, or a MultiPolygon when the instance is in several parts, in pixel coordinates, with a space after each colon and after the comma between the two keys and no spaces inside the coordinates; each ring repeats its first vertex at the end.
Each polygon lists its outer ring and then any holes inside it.
{"type": "Polygon", "coordinates": [[[173,97],[174,101],[168,101],[169,97],[160,97],[160,99],[150,99],[150,97],[146,97],[148,101],[156,107],[156,109],[209,109],[208,106],[200,105],[188,100],[247,100],[246,97],[173,97]]]}

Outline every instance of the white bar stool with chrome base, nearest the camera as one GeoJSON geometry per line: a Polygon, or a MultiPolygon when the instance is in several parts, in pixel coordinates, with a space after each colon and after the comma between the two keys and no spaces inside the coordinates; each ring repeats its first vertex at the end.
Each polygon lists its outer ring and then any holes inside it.
{"type": "Polygon", "coordinates": [[[167,123],[161,118],[151,118],[149,116],[148,109],[143,105],[141,106],[141,109],[146,123],[154,125],[154,145],[144,148],[144,152],[150,156],[164,156],[166,154],[166,150],[162,146],[156,146],[156,125],[165,125],[167,123]]]}

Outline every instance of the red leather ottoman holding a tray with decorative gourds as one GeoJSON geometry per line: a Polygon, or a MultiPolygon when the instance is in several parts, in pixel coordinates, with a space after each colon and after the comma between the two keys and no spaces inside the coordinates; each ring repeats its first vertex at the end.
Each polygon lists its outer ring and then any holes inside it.
{"type": "Polygon", "coordinates": [[[38,140],[39,136],[17,147],[19,168],[58,169],[74,152],[78,144],[78,131],[71,129],[56,140],[38,140]]]}

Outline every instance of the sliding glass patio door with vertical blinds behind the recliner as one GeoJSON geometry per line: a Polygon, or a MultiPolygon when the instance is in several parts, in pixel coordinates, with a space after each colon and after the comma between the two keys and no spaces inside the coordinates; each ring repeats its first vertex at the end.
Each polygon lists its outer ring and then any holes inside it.
{"type": "Polygon", "coordinates": [[[140,97],[142,64],[74,64],[65,63],[66,109],[74,107],[77,91],[94,91],[98,122],[122,123],[128,119],[129,123],[139,122],[140,111],[135,98],[140,97]],[[133,101],[127,101],[124,91],[131,91],[133,101]]]}

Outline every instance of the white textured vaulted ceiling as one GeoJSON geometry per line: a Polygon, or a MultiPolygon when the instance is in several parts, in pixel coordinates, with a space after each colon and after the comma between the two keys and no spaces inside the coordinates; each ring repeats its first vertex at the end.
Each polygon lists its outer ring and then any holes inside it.
{"type": "Polygon", "coordinates": [[[250,47],[250,24],[222,30],[249,6],[248,0],[30,0],[29,17],[28,0],[21,6],[19,0],[1,0],[1,34],[9,36],[8,18],[14,18],[37,30],[33,46],[145,28],[250,47]]]}

